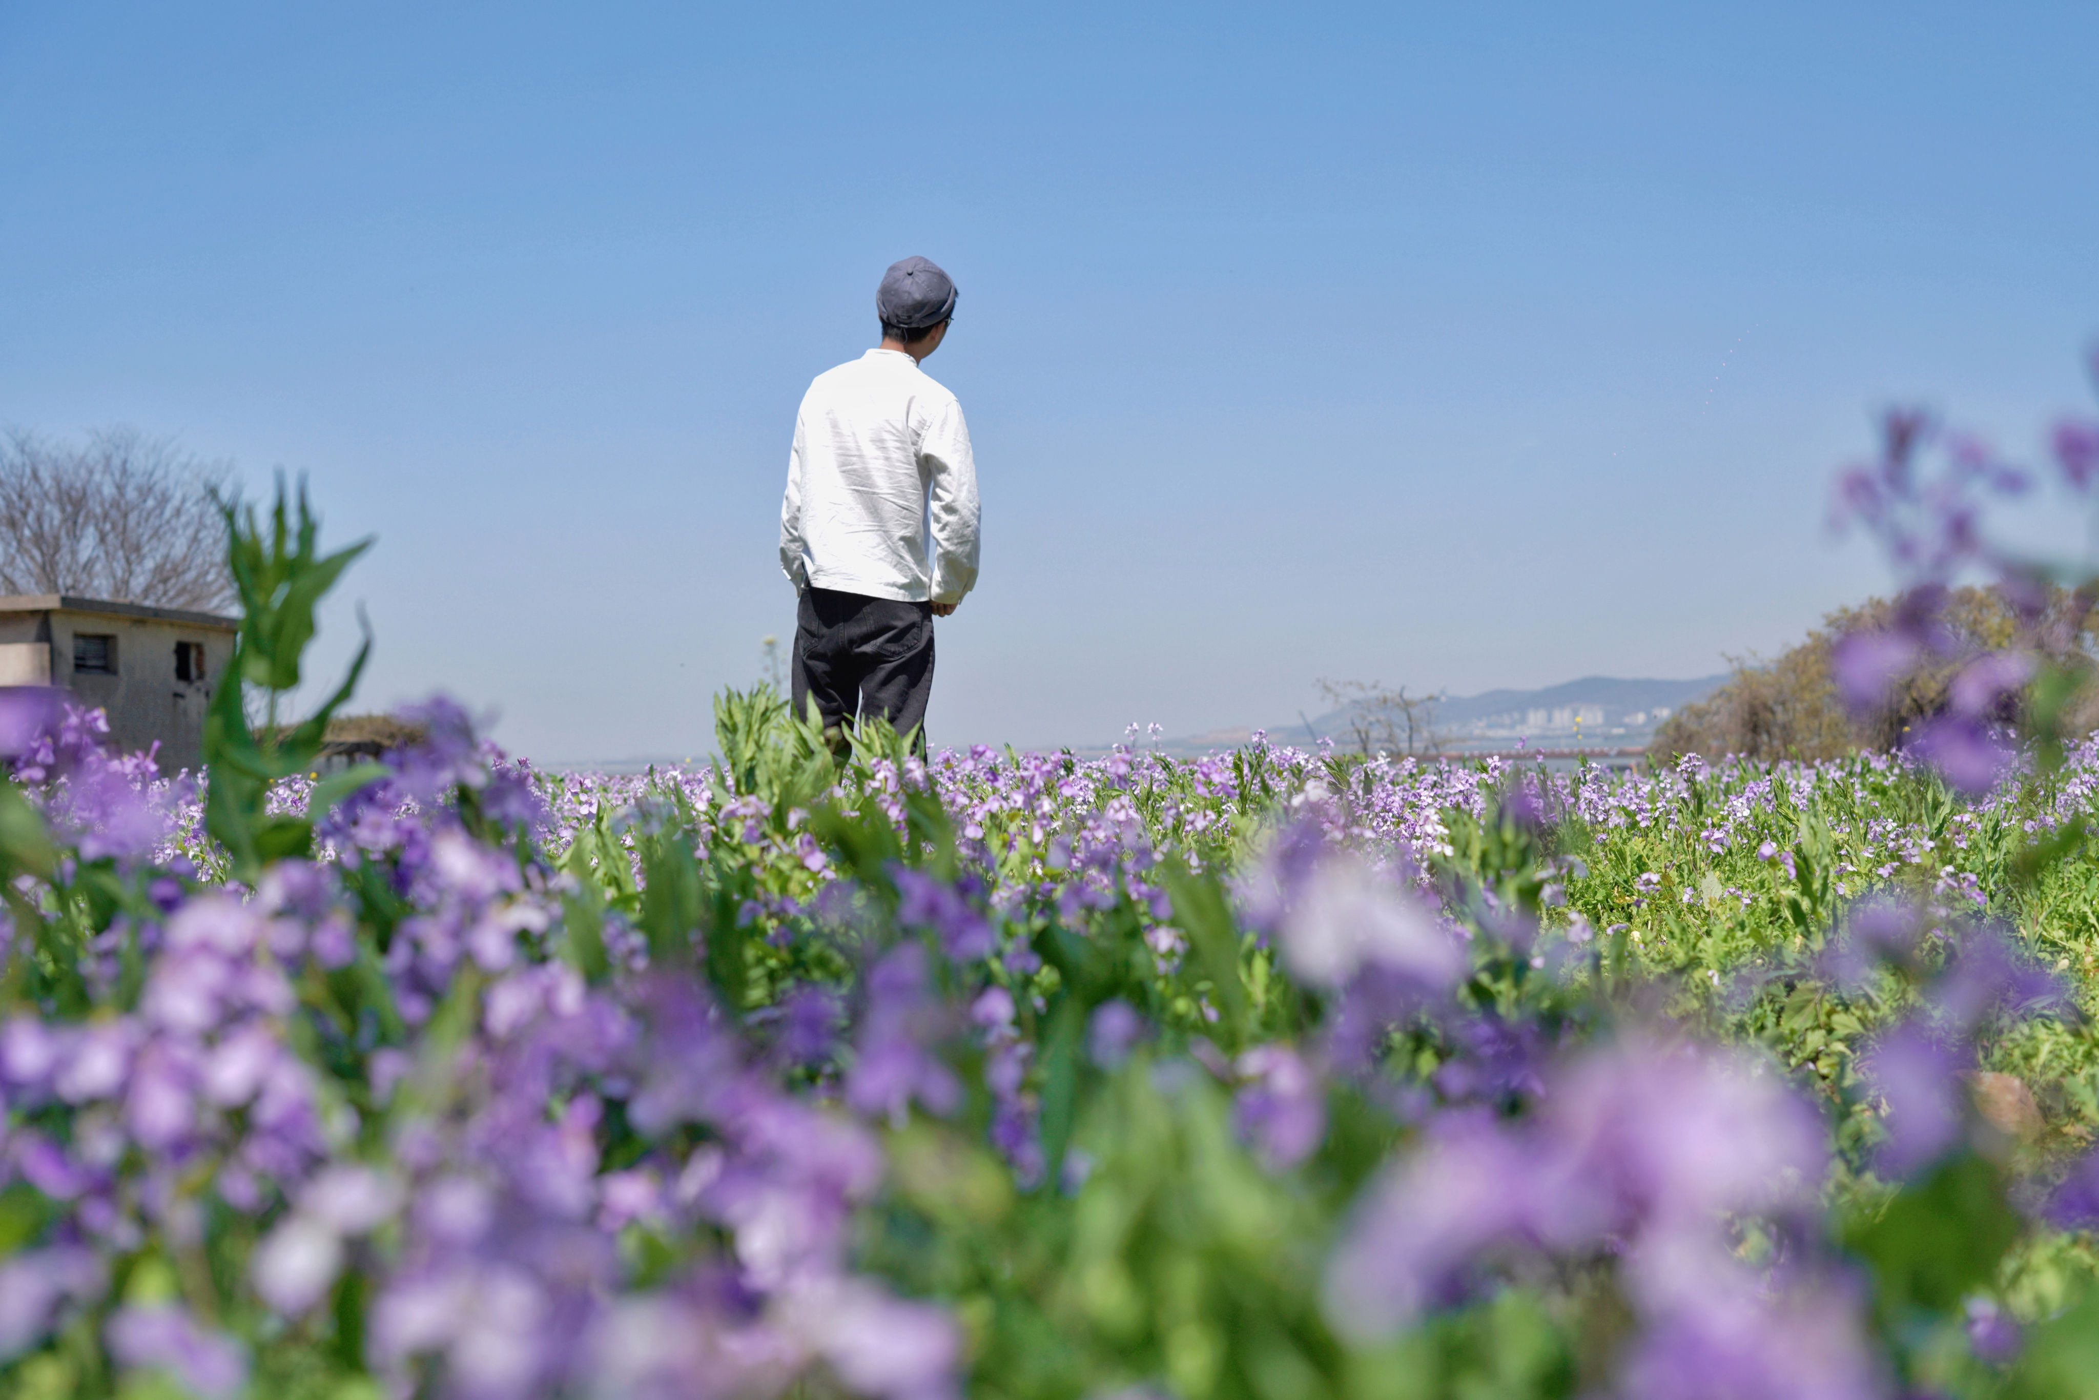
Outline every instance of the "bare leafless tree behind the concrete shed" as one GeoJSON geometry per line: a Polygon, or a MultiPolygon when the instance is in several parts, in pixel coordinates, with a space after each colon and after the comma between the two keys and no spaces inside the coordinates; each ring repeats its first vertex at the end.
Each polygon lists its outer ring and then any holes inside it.
{"type": "Polygon", "coordinates": [[[222,611],[231,468],[132,428],[0,434],[0,590],[222,611]]]}

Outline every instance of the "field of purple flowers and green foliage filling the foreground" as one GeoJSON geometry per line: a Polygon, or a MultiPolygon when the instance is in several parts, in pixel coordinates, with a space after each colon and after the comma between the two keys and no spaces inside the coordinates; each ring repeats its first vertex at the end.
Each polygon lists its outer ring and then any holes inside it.
{"type": "Polygon", "coordinates": [[[208,777],[0,712],[6,1394],[2099,1390],[2099,745],[317,777],[231,525],[208,777]]]}

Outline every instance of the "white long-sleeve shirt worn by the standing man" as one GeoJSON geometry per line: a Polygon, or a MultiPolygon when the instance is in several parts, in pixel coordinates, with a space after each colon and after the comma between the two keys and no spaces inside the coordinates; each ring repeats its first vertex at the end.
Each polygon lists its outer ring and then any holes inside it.
{"type": "Polygon", "coordinates": [[[781,502],[798,592],[959,602],[976,584],[976,514],[961,405],[915,359],[869,351],[810,382],[781,502]]]}

